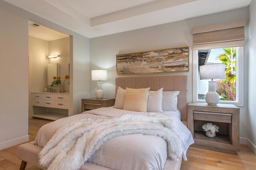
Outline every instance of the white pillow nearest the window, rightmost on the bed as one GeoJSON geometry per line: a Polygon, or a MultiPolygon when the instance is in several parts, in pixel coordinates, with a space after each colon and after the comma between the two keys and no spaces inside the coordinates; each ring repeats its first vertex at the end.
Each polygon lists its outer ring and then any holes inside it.
{"type": "Polygon", "coordinates": [[[180,91],[163,92],[163,111],[178,110],[178,94],[180,91]]]}

